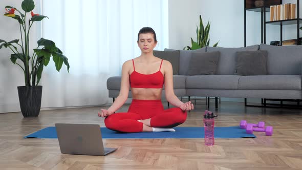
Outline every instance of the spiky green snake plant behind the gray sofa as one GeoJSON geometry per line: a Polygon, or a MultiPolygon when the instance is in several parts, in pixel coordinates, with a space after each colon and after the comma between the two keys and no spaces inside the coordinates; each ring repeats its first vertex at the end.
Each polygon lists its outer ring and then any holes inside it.
{"type": "MultiPolygon", "coordinates": [[[[209,24],[209,22],[208,22],[206,27],[204,27],[201,15],[199,15],[199,28],[198,28],[198,26],[196,26],[196,27],[197,27],[196,28],[196,34],[197,34],[196,41],[194,41],[193,38],[191,37],[191,47],[187,46],[184,48],[184,50],[196,50],[196,49],[200,49],[200,48],[209,46],[209,44],[210,44],[209,32],[210,32],[211,24],[209,24]]],[[[218,42],[216,42],[213,45],[213,47],[217,47],[218,42]]]]}

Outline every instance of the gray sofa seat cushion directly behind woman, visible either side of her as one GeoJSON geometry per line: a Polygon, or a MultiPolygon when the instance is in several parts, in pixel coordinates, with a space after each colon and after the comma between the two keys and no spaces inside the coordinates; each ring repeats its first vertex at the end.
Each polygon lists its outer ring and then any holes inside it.
{"type": "MultiPolygon", "coordinates": [[[[188,76],[174,75],[173,76],[173,86],[174,89],[185,89],[185,81],[188,76]]],[[[107,89],[108,90],[120,90],[121,89],[121,76],[109,77],[107,79],[107,89]]],[[[130,88],[131,89],[131,88],[130,88]]],[[[164,89],[164,86],[163,86],[164,89]]]]}

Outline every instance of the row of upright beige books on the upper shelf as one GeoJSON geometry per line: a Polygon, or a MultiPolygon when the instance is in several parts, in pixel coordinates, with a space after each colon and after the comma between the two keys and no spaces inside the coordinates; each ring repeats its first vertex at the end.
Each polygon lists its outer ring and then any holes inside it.
{"type": "Polygon", "coordinates": [[[296,4],[281,4],[270,6],[270,21],[296,18],[296,4]]]}

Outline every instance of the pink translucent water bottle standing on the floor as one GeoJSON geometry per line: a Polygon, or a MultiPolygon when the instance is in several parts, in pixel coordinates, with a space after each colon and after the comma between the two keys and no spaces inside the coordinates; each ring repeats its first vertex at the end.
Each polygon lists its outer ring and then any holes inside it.
{"type": "Polygon", "coordinates": [[[205,145],[214,145],[214,117],[217,115],[213,115],[210,111],[205,111],[203,115],[205,145]]]}

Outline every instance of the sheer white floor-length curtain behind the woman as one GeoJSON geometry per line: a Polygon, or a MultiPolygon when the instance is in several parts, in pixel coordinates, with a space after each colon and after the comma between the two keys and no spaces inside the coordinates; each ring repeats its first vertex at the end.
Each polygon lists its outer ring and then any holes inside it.
{"type": "Polygon", "coordinates": [[[108,98],[106,80],[121,75],[124,61],[140,55],[137,34],[152,27],[156,50],[168,47],[168,2],[133,0],[43,0],[41,36],[56,42],[69,58],[58,73],[44,69],[42,107],[101,105],[108,98]]]}

